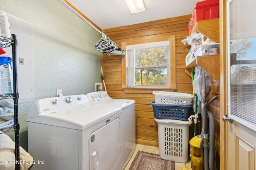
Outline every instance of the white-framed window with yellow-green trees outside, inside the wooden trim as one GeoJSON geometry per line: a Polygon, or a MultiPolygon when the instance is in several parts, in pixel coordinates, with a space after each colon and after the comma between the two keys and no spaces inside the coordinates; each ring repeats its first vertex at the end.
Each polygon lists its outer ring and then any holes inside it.
{"type": "Polygon", "coordinates": [[[128,87],[170,86],[170,41],[126,46],[128,87]]]}

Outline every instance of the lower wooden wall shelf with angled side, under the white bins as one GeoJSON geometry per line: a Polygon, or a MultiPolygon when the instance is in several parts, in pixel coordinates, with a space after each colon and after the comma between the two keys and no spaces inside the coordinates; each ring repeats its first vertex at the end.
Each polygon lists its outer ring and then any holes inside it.
{"type": "Polygon", "coordinates": [[[200,66],[215,80],[220,80],[220,55],[197,56],[188,66],[185,72],[191,76],[191,70],[195,66],[200,66]]]}

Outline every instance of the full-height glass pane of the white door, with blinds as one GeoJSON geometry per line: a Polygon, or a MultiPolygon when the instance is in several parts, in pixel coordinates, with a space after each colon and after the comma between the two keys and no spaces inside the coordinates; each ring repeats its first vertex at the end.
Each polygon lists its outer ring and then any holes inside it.
{"type": "Polygon", "coordinates": [[[256,31],[252,17],[255,9],[249,1],[232,0],[229,5],[228,109],[233,119],[252,127],[256,125],[256,31]]]}

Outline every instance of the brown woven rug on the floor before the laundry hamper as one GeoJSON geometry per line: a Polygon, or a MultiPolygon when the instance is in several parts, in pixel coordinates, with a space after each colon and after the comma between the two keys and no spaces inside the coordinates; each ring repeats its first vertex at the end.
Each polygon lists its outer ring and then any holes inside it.
{"type": "Polygon", "coordinates": [[[175,162],[160,158],[159,154],[138,151],[129,170],[174,170],[175,162]]]}

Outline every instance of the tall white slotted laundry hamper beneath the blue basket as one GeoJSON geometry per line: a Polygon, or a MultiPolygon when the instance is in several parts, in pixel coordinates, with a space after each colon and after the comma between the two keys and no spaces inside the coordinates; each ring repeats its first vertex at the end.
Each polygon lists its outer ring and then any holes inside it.
{"type": "Polygon", "coordinates": [[[188,161],[188,131],[192,121],[156,119],[158,124],[159,155],[164,160],[188,161]]]}

